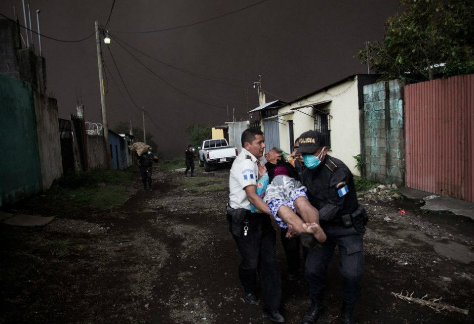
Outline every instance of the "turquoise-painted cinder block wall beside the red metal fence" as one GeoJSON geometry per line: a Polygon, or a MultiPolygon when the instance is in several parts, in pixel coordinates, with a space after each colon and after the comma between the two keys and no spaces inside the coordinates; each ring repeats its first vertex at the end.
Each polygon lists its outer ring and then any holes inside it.
{"type": "Polygon", "coordinates": [[[402,80],[364,86],[364,176],[373,182],[404,185],[405,139],[402,80]]]}

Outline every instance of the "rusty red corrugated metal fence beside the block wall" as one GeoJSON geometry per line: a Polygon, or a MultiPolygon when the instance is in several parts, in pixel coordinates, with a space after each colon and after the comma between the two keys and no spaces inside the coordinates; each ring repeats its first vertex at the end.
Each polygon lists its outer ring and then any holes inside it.
{"type": "Polygon", "coordinates": [[[474,75],[404,93],[406,185],[474,202],[474,75]]]}

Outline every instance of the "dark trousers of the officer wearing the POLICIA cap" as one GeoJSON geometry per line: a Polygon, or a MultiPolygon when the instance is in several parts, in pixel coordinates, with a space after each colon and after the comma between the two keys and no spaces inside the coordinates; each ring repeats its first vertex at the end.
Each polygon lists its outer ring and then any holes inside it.
{"type": "Polygon", "coordinates": [[[347,304],[354,304],[360,295],[360,279],[364,271],[363,236],[353,227],[323,227],[327,240],[318,250],[309,250],[306,259],[305,277],[308,282],[310,297],[313,301],[322,302],[326,286],[326,273],[336,245],[339,247],[339,272],[343,277],[341,295],[347,304]]]}

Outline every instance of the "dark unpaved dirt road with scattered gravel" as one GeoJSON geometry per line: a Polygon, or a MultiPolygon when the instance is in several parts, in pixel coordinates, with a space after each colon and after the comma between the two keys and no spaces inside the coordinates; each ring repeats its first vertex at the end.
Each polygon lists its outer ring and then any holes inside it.
{"type": "MultiPolygon", "coordinates": [[[[40,198],[25,213],[57,218],[43,228],[0,225],[0,323],[266,323],[261,306],[243,302],[239,256],[223,214],[229,171],[155,171],[155,190],[137,187],[123,206],[99,212],[40,198]]],[[[362,202],[364,203],[364,202],[362,202]]],[[[367,204],[367,203],[364,203],[367,204]]],[[[409,202],[366,205],[366,271],[358,323],[474,323],[474,224],[422,213],[409,202]],[[404,208],[404,216],[397,213],[404,208]],[[396,299],[443,297],[469,315],[396,299]]],[[[286,280],[286,323],[308,307],[305,282],[286,280]]],[[[337,323],[337,254],[329,269],[327,311],[337,323]]]]}

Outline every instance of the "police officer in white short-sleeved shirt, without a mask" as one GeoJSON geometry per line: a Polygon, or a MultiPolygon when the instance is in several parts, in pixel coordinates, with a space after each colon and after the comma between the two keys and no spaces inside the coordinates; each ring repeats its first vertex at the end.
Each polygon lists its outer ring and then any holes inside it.
{"type": "Polygon", "coordinates": [[[242,133],[242,151],[232,164],[229,177],[229,204],[227,219],[229,231],[237,243],[241,256],[239,278],[244,300],[257,304],[255,294],[257,272],[263,297],[263,316],[272,322],[284,323],[279,313],[281,278],[276,261],[276,231],[267,204],[256,193],[259,174],[266,169],[260,158],[265,150],[265,139],[259,129],[250,128],[242,133]],[[262,213],[252,213],[250,205],[262,213]]]}

